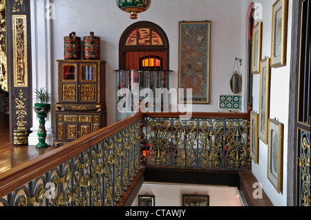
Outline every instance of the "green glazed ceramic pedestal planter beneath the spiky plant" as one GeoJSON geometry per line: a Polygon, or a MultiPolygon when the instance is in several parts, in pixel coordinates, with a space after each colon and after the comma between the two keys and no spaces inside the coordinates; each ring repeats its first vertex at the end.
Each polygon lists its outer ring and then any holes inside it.
{"type": "Polygon", "coordinates": [[[47,148],[48,144],[46,143],[46,117],[48,112],[50,112],[50,103],[35,103],[35,112],[39,118],[39,130],[38,130],[38,140],[36,148],[47,148]]]}

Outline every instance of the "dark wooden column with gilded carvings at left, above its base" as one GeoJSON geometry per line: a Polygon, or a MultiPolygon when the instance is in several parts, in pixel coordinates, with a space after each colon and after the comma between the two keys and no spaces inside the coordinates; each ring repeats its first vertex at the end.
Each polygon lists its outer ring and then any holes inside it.
{"type": "Polygon", "coordinates": [[[6,1],[10,142],[17,126],[32,126],[30,0],[6,1]]]}

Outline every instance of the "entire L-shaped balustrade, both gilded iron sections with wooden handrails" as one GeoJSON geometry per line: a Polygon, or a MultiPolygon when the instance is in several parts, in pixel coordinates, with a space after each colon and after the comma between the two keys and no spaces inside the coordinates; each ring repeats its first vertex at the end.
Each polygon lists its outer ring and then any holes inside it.
{"type": "Polygon", "coordinates": [[[179,115],[139,112],[0,173],[0,206],[119,206],[142,166],[247,169],[249,114],[179,115]]]}

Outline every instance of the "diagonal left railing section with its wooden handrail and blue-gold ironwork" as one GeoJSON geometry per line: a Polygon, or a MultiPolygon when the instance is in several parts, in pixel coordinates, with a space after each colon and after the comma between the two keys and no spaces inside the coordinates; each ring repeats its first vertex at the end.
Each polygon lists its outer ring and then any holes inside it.
{"type": "Polygon", "coordinates": [[[0,206],[115,206],[140,170],[141,117],[136,114],[0,174],[0,206]]]}

